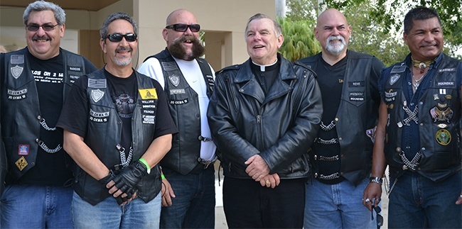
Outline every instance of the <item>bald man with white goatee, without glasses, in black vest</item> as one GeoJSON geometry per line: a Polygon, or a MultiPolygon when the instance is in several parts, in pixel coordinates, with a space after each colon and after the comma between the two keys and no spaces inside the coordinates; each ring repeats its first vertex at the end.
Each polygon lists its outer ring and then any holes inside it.
{"type": "Polygon", "coordinates": [[[324,108],[308,152],[312,179],[306,184],[305,228],[376,228],[370,212],[360,206],[370,178],[369,137],[377,124],[377,80],[384,65],[372,55],[348,50],[350,33],[343,13],[323,11],[314,28],[323,51],[299,60],[318,75],[324,108]]]}

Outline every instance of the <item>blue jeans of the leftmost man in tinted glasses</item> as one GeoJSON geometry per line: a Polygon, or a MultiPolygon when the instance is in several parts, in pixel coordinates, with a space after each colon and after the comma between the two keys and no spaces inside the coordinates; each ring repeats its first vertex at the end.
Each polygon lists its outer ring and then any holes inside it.
{"type": "Polygon", "coordinates": [[[70,187],[14,184],[1,196],[1,228],[72,228],[70,187]]]}

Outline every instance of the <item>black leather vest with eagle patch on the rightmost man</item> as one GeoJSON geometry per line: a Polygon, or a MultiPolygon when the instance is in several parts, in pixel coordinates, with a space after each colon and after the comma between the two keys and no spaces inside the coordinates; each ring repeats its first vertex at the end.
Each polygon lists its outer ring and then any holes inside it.
{"type": "MultiPolygon", "coordinates": [[[[460,64],[447,55],[442,55],[436,65],[436,74],[431,75],[431,85],[419,100],[419,137],[422,153],[417,172],[433,181],[441,181],[461,170],[461,86],[457,84],[456,70],[460,64]]],[[[407,118],[403,109],[406,97],[402,89],[409,67],[405,62],[397,63],[385,82],[385,104],[389,115],[385,157],[394,177],[403,172],[402,128],[398,123],[407,118]]]]}

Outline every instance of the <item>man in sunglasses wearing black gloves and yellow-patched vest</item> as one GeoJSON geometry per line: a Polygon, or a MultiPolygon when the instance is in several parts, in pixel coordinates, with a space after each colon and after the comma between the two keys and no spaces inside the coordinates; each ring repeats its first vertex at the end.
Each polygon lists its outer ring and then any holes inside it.
{"type": "Polygon", "coordinates": [[[177,130],[161,85],[131,67],[137,34],[127,13],[106,18],[107,64],[75,81],[58,121],[78,165],[74,228],[159,228],[159,161],[177,130]]]}

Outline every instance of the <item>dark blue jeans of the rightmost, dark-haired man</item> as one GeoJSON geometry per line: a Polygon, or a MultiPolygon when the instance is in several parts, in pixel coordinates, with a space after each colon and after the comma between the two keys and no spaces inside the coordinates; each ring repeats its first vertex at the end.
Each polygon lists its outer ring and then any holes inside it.
{"type": "Polygon", "coordinates": [[[440,183],[417,172],[405,172],[389,196],[388,227],[462,228],[462,206],[455,203],[461,194],[461,183],[461,172],[440,183]]]}

